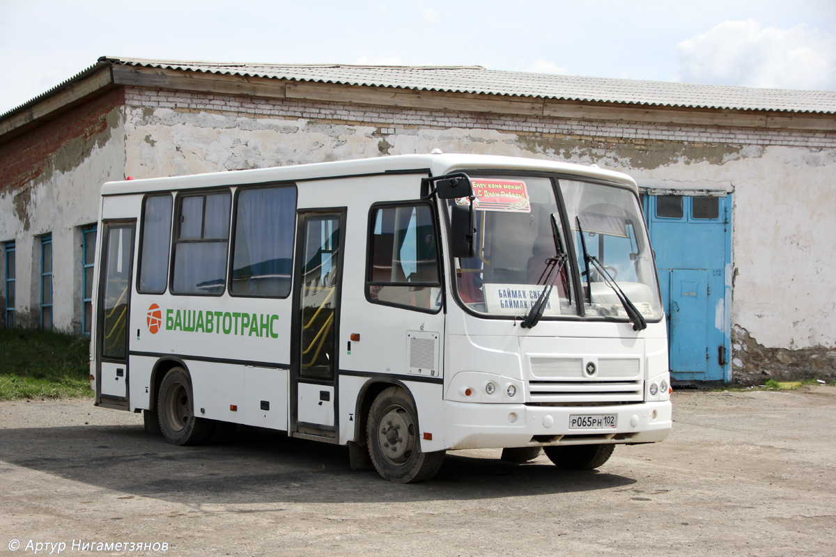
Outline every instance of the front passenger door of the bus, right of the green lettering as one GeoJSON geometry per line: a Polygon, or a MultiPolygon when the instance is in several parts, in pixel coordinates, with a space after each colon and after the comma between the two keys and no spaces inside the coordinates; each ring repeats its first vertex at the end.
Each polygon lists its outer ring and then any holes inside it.
{"type": "Polygon", "coordinates": [[[298,215],[290,393],[290,431],[298,437],[338,437],[336,348],[343,229],[344,210],[298,215]]]}

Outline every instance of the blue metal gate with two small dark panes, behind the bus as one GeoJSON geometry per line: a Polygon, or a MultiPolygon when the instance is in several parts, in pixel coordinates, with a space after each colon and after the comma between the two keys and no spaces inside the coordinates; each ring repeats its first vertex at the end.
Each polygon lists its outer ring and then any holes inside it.
{"type": "Polygon", "coordinates": [[[731,380],[731,195],[647,195],[675,383],[731,380]]]}

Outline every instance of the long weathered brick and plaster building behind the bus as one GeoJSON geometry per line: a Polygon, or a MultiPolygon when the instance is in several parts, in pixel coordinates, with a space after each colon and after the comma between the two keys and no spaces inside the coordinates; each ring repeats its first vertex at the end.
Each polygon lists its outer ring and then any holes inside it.
{"type": "Polygon", "coordinates": [[[0,327],[89,330],[104,181],[436,148],[634,176],[682,381],[836,373],[836,93],[478,67],[100,58],[0,115],[0,327]]]}

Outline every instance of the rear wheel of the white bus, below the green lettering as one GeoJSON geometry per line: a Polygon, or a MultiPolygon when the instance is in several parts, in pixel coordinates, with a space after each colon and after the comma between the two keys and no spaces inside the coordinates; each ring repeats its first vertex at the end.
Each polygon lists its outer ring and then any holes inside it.
{"type": "Polygon", "coordinates": [[[157,398],[160,428],[172,445],[199,445],[212,434],[212,420],[195,416],[193,400],[191,377],[182,367],[172,367],[157,398]]]}

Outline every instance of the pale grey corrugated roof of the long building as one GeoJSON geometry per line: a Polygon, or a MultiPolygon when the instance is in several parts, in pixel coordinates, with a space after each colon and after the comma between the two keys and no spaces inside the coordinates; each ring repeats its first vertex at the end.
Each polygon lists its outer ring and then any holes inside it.
{"type": "Polygon", "coordinates": [[[507,72],[481,66],[357,66],[101,58],[111,63],[301,82],[495,94],[594,103],[836,114],[836,92],[507,72]]]}

